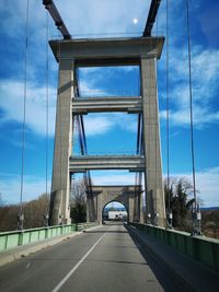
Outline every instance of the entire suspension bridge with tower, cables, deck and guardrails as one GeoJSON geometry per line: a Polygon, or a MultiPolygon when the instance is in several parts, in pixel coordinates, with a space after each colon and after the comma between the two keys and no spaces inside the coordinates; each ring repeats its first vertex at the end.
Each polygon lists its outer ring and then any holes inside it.
{"type": "MultiPolygon", "coordinates": [[[[49,40],[50,49],[59,63],[50,201],[45,214],[45,226],[25,230],[22,209],[27,77],[25,54],[19,231],[0,233],[1,291],[217,291],[219,242],[201,236],[200,211],[196,198],[188,1],[186,12],[194,192],[192,234],[172,229],[170,200],[168,207],[164,202],[157,93],[157,61],[162,55],[164,37],[152,36],[160,2],[161,0],[151,1],[140,37],[78,39],[71,36],[55,2],[43,0],[62,35],[62,39],[49,40]],[[82,96],[79,69],[108,66],[139,67],[140,94],[82,96]],[[117,112],[138,115],[136,153],[89,154],[84,115],[117,112]],[[79,154],[72,153],[76,132],[79,154]],[[93,185],[91,171],[103,170],[135,172],[135,185],[93,185]],[[71,223],[69,208],[71,180],[77,173],[83,175],[87,188],[87,223],[81,224],[71,223]],[[126,207],[127,222],[107,222],[102,225],[103,208],[111,201],[118,201],[126,207]]],[[[166,0],[169,24],[168,21],[166,0]]],[[[27,25],[28,1],[26,31],[27,25]]],[[[166,48],[168,45],[169,34],[166,48]]],[[[166,70],[169,57],[166,49],[166,70]]],[[[166,84],[169,164],[168,73],[166,84]]],[[[168,187],[169,184],[168,165],[168,187]]]]}

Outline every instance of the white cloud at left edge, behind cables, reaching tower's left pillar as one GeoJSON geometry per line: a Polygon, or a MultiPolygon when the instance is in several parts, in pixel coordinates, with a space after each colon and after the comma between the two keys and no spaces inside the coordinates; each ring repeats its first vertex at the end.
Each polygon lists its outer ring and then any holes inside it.
{"type": "MultiPolygon", "coordinates": [[[[4,112],[1,122],[23,122],[24,85],[19,81],[0,81],[0,107],[4,112]]],[[[56,90],[49,90],[49,135],[54,135],[56,90]]],[[[26,125],[39,135],[46,132],[46,89],[27,83],[26,94],[26,125]]]]}

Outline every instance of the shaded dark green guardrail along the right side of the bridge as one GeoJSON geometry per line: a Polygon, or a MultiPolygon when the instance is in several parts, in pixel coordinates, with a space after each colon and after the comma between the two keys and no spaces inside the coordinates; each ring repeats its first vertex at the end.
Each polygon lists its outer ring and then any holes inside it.
{"type": "Polygon", "coordinates": [[[219,272],[219,241],[205,237],[192,236],[187,232],[166,230],[158,226],[140,223],[129,223],[172,246],[178,252],[193,257],[195,260],[219,272]]]}

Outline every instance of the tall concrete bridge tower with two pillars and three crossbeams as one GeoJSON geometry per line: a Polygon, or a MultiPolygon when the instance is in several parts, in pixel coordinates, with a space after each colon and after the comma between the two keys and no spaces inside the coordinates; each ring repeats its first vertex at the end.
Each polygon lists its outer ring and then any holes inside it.
{"type": "MultiPolygon", "coordinates": [[[[161,56],[163,42],[163,37],[49,42],[54,56],[59,62],[50,224],[58,224],[60,220],[62,223],[70,222],[69,190],[72,173],[89,170],[129,170],[145,173],[147,212],[152,215],[159,214],[158,223],[161,226],[164,225],[165,210],[157,93],[157,59],[161,56]],[[131,65],[140,68],[140,96],[107,98],[92,96],[92,101],[76,96],[77,68],[131,65]],[[72,157],[74,116],[107,112],[142,114],[145,154],[72,157]]],[[[138,221],[143,220],[141,207],[138,221]]],[[[94,218],[94,220],[97,219],[94,218]]]]}

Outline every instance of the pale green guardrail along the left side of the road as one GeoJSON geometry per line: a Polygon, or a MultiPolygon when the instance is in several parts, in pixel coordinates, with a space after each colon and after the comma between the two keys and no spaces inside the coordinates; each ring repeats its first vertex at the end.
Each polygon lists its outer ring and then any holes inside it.
{"type": "Polygon", "coordinates": [[[28,229],[22,231],[11,231],[0,233],[0,253],[21,245],[41,242],[55,236],[82,231],[97,225],[95,222],[76,223],[67,225],[55,225],[39,229],[28,229]]]}

